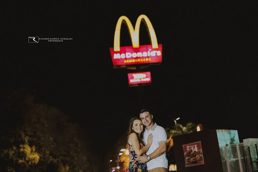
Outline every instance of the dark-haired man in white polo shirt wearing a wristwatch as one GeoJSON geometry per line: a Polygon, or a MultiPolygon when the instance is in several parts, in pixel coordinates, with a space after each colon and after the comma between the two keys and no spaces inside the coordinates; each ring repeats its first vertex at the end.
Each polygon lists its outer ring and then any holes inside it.
{"type": "Polygon", "coordinates": [[[166,158],[167,133],[165,129],[153,123],[153,115],[150,110],[140,111],[142,124],[146,126],[143,139],[147,142],[148,135],[153,134],[153,142],[146,152],[146,155],[136,156],[136,161],[147,162],[148,172],[167,172],[168,161],[166,158]]]}

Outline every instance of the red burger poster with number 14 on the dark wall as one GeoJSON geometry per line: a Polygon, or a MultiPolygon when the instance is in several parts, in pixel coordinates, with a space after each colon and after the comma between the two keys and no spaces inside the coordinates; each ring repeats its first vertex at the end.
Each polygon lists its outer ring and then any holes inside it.
{"type": "Polygon", "coordinates": [[[183,145],[185,167],[204,164],[201,142],[183,145]]]}

